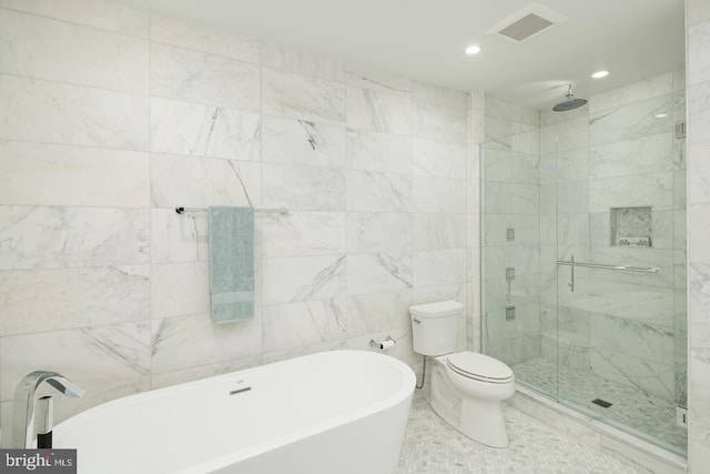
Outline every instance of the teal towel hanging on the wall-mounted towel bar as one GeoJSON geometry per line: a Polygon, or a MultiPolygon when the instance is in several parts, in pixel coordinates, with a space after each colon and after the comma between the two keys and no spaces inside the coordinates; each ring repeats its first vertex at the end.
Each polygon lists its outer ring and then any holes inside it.
{"type": "Polygon", "coordinates": [[[254,209],[210,208],[212,322],[254,317],[254,209]]]}

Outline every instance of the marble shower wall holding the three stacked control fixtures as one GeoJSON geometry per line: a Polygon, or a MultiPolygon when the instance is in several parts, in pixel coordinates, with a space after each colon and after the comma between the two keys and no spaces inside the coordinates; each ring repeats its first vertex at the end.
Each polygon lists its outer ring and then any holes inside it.
{"type": "Polygon", "coordinates": [[[540,355],[538,112],[486,99],[485,192],[481,196],[481,317],[486,354],[508,364],[540,355]],[[515,240],[507,240],[513,229],[515,240]],[[506,268],[515,279],[506,281],[506,268]],[[506,320],[506,305],[515,319],[506,320]]]}

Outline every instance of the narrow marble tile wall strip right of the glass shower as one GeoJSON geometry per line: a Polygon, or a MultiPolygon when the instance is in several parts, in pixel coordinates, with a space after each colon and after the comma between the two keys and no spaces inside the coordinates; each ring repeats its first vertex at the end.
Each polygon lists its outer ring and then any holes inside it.
{"type": "Polygon", "coordinates": [[[689,465],[710,463],[710,4],[686,1],[688,78],[689,465]]]}

